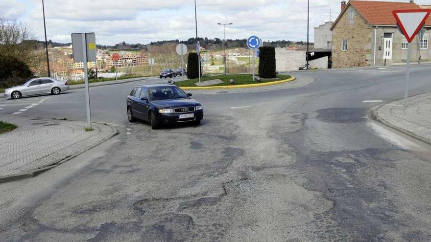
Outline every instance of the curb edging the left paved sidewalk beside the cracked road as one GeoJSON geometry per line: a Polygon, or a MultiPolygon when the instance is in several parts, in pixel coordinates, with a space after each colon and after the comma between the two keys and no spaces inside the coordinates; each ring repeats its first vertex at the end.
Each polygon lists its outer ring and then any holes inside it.
{"type": "Polygon", "coordinates": [[[84,152],[86,152],[86,151],[88,151],[88,150],[90,150],[90,149],[92,149],[92,148],[100,145],[101,143],[107,141],[108,139],[110,139],[113,136],[115,136],[115,135],[118,134],[118,130],[115,129],[114,127],[112,127],[111,125],[108,125],[108,124],[103,124],[103,125],[108,126],[113,131],[110,136],[108,136],[108,137],[100,140],[96,144],[94,144],[92,146],[89,146],[86,149],[84,149],[84,150],[82,150],[82,151],[80,151],[80,152],[78,152],[76,154],[73,154],[71,156],[65,157],[64,159],[62,159],[62,160],[60,160],[57,163],[54,163],[52,165],[49,165],[49,166],[46,166],[46,167],[43,167],[43,168],[39,168],[39,169],[35,169],[35,170],[29,171],[29,172],[18,173],[18,174],[11,175],[11,176],[0,176],[0,184],[1,183],[6,183],[6,182],[10,182],[10,181],[22,180],[22,179],[26,179],[26,178],[35,177],[37,175],[40,175],[40,174],[42,174],[42,173],[44,173],[46,171],[51,170],[54,167],[57,167],[57,166],[65,163],[66,161],[69,161],[69,160],[73,159],[74,157],[76,157],[76,156],[78,156],[78,155],[80,155],[80,154],[82,154],[82,153],[84,153],[84,152]]]}

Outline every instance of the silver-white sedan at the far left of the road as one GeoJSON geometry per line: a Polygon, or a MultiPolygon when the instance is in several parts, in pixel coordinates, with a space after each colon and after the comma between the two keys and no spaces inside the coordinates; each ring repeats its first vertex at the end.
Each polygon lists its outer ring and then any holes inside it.
{"type": "Polygon", "coordinates": [[[69,90],[69,84],[66,81],[60,81],[54,78],[41,77],[34,78],[23,84],[13,88],[4,90],[4,97],[18,99],[20,97],[37,96],[44,94],[60,94],[62,91],[69,90]]]}

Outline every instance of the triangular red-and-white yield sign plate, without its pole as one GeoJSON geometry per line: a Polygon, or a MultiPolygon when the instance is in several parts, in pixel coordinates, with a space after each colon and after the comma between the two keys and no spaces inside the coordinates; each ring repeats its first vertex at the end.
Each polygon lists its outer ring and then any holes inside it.
{"type": "Polygon", "coordinates": [[[401,31],[411,43],[431,14],[431,9],[403,9],[392,12],[401,31]]]}

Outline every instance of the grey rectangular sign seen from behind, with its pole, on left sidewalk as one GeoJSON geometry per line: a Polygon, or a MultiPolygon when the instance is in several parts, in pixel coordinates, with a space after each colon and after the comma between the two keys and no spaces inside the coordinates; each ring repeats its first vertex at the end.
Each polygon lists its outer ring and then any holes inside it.
{"type": "Polygon", "coordinates": [[[84,63],[85,97],[87,102],[87,124],[91,129],[90,90],[88,87],[88,62],[96,61],[95,33],[72,34],[73,61],[84,63]]]}

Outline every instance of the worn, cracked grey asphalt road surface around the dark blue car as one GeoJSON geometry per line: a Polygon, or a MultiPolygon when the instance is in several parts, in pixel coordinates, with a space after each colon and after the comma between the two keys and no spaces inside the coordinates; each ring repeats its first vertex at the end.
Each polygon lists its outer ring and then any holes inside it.
{"type": "MultiPolygon", "coordinates": [[[[136,83],[91,88],[94,119],[120,134],[0,184],[0,241],[431,241],[430,146],[371,120],[379,104],[363,103],[401,99],[404,70],[298,72],[304,85],[193,91],[202,124],[157,131],[127,123],[136,83]]],[[[411,95],[431,89],[430,70],[412,68],[411,95]]],[[[85,120],[81,96],[20,115],[85,120]]]]}

